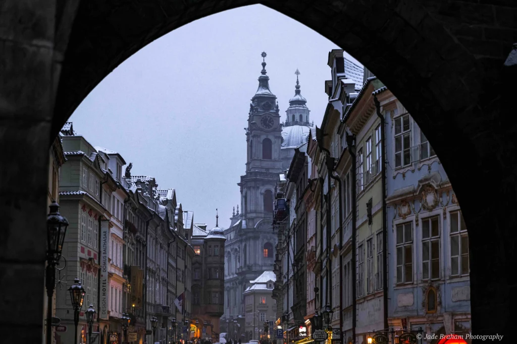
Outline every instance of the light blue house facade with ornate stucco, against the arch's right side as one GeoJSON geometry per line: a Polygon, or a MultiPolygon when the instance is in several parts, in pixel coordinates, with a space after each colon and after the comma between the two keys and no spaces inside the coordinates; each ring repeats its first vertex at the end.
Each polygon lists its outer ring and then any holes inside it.
{"type": "Polygon", "coordinates": [[[389,326],[420,328],[422,343],[465,335],[469,249],[460,205],[417,123],[388,89],[374,93],[386,128],[389,326]]]}

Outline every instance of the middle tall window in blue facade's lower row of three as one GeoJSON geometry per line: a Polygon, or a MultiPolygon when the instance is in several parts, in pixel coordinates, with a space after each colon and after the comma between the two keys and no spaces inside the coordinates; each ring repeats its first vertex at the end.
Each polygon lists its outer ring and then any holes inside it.
{"type": "Polygon", "coordinates": [[[422,280],[440,279],[439,217],[422,220],[422,280]]]}

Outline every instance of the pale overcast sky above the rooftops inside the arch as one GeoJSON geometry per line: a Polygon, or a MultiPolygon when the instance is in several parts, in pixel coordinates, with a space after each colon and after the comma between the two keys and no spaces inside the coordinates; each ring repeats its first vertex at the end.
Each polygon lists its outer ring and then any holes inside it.
{"type": "MultiPolygon", "coordinates": [[[[300,70],[301,94],[320,126],[327,106],[328,53],[312,29],[262,5],[200,19],[150,43],[109,74],[72,114],[74,130],[119,152],[132,175],[176,189],[194,222],[229,226],[240,204],[250,99],[262,51],[282,120],[300,70]]],[[[353,61],[356,61],[352,58],[353,61]]]]}

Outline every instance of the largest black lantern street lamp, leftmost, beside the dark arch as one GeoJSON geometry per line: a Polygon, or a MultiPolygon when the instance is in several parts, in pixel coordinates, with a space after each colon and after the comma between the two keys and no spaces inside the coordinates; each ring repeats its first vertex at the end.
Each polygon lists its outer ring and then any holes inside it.
{"type": "Polygon", "coordinates": [[[56,265],[63,251],[68,221],[59,214],[59,204],[55,200],[49,206],[47,215],[47,270],[45,271],[45,285],[47,287],[47,344],[52,343],[52,296],[56,284],[56,265]]]}

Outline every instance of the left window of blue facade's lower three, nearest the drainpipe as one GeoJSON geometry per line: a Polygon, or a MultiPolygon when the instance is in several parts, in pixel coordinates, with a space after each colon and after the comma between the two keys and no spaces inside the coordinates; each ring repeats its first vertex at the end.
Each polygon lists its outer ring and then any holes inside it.
{"type": "Polygon", "coordinates": [[[397,225],[397,283],[413,282],[413,222],[397,225]]]}

